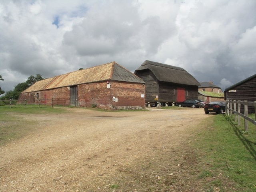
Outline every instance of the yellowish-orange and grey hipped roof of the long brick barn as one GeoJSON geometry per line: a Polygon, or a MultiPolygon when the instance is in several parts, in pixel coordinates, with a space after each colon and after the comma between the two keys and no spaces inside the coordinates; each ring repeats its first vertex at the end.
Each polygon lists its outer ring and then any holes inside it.
{"type": "Polygon", "coordinates": [[[116,62],[111,62],[38,81],[22,93],[100,82],[104,80],[145,83],[141,78],[126,70],[116,62]]]}

